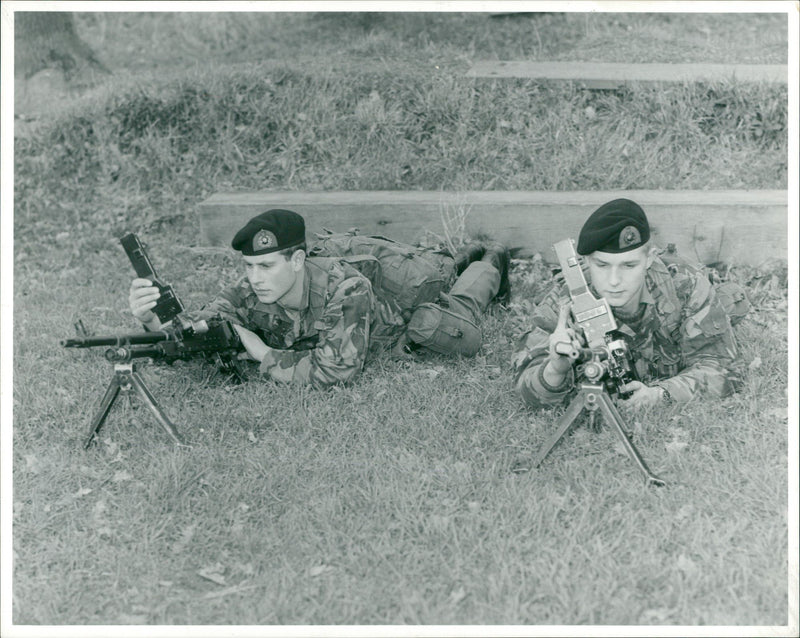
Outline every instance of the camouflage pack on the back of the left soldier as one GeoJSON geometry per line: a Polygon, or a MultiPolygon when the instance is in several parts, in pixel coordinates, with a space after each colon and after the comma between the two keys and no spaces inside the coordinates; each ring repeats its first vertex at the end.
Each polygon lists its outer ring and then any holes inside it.
{"type": "Polygon", "coordinates": [[[317,234],[308,255],[341,258],[370,280],[379,298],[394,300],[401,311],[436,301],[455,280],[454,260],[448,253],[359,235],[355,228],[317,234]]]}

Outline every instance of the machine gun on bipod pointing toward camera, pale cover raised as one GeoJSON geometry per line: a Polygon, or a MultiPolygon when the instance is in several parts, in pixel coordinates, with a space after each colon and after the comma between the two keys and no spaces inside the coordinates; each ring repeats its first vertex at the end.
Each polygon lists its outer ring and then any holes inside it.
{"type": "MultiPolygon", "coordinates": [[[[626,336],[617,329],[617,322],[608,301],[597,299],[589,290],[583,275],[575,242],[565,239],[554,244],[556,256],[561,264],[561,272],[571,298],[570,313],[573,325],[582,333],[585,348],[576,348],[571,343],[556,344],[555,350],[577,362],[577,372],[582,378],[578,394],[558,420],[555,432],[539,449],[532,461],[538,467],[550,450],[558,443],[576,418],[584,411],[589,412],[593,426],[599,410],[622,441],[625,452],[644,474],[648,485],[662,487],[665,481],[653,474],[633,445],[631,436],[625,428],[625,421],[611,399],[611,395],[627,398],[621,386],[636,379],[633,357],[628,348],[626,336]]],[[[518,462],[515,471],[525,471],[527,463],[518,462]]]]}

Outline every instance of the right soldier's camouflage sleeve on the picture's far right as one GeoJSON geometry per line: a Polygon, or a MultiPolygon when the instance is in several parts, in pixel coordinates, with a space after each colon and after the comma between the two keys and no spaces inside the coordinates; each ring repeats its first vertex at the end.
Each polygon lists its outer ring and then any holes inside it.
{"type": "Polygon", "coordinates": [[[736,338],[728,314],[716,290],[702,272],[694,275],[684,296],[684,319],[680,327],[682,370],[659,381],[678,402],[702,393],[724,397],[733,392],[736,338]],[[688,293],[688,294],[687,294],[688,293]]]}

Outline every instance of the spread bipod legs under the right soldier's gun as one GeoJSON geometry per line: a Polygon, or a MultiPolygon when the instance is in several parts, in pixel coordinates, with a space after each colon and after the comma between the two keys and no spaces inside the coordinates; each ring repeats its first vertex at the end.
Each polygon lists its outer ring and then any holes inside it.
{"type": "MultiPolygon", "coordinates": [[[[644,474],[648,485],[655,485],[657,487],[664,487],[666,485],[666,481],[657,477],[650,471],[650,468],[647,467],[647,463],[644,462],[644,459],[639,454],[636,446],[634,446],[633,442],[630,440],[630,437],[625,430],[625,421],[622,418],[622,415],[619,413],[619,410],[617,410],[617,406],[614,405],[614,402],[608,395],[605,387],[603,385],[593,383],[582,383],[580,385],[577,396],[572,400],[567,407],[566,412],[564,412],[564,414],[558,420],[555,432],[553,432],[544,445],[539,448],[539,452],[536,454],[530,464],[531,467],[539,467],[539,465],[541,465],[542,461],[544,461],[544,459],[550,453],[550,450],[552,450],[556,443],[561,440],[575,419],[577,419],[584,410],[588,410],[591,416],[593,416],[597,410],[600,411],[600,413],[605,417],[606,421],[608,421],[608,423],[612,426],[614,432],[617,433],[619,439],[622,441],[625,452],[636,464],[639,470],[641,470],[642,474],[644,474]]],[[[525,471],[528,468],[524,467],[524,465],[525,463],[518,462],[517,466],[514,468],[514,471],[525,471]]]]}

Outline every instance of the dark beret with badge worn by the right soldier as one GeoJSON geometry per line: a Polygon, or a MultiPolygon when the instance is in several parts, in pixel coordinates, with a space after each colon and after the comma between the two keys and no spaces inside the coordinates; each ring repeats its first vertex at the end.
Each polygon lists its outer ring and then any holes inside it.
{"type": "Polygon", "coordinates": [[[629,199],[615,199],[594,211],[578,236],[579,255],[595,250],[626,253],[650,239],[650,224],[641,206],[629,199]]]}

